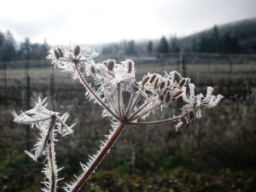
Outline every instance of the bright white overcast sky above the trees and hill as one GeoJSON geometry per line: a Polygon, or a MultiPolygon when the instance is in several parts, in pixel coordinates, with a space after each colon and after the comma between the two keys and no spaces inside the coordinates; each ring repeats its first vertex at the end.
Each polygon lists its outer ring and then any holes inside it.
{"type": "Polygon", "coordinates": [[[187,36],[256,17],[255,0],[5,0],[0,31],[17,42],[99,44],[187,36]]]}

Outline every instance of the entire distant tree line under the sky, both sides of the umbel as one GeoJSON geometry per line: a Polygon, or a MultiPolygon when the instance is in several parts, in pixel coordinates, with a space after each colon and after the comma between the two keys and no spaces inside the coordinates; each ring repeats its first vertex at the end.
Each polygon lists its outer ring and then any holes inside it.
{"type": "MultiPolygon", "coordinates": [[[[41,60],[47,55],[49,45],[32,44],[29,38],[16,44],[11,32],[0,31],[0,61],[41,60]]],[[[240,54],[256,53],[256,22],[221,27],[191,35],[186,38],[161,37],[148,41],[123,40],[119,43],[102,44],[96,48],[105,57],[130,55],[157,55],[186,52],[240,54]],[[253,26],[254,25],[254,26],[253,26]]]]}

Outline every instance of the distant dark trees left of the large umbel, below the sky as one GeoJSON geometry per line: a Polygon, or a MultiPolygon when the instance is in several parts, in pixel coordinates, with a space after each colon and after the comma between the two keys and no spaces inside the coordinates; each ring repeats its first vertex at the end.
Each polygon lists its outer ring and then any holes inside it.
{"type": "Polygon", "coordinates": [[[0,32],[0,61],[25,61],[44,59],[49,50],[49,45],[32,44],[29,38],[24,42],[16,44],[11,32],[0,32]]]}

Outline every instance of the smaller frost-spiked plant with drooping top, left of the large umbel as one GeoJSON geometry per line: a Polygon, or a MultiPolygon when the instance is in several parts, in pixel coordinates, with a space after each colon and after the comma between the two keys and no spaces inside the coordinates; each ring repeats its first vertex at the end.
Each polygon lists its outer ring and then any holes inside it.
{"type": "Polygon", "coordinates": [[[18,115],[15,111],[13,112],[15,122],[20,124],[32,125],[38,128],[40,137],[38,143],[35,144],[35,148],[32,152],[25,151],[25,153],[37,162],[44,164],[45,180],[42,191],[44,192],[55,192],[57,189],[58,172],[60,169],[56,166],[55,161],[55,135],[57,133],[61,136],[73,133],[73,126],[68,126],[65,122],[68,118],[68,113],[64,113],[59,116],[59,113],[49,111],[46,109],[47,104],[46,98],[41,101],[38,99],[34,108],[21,112],[18,115]]]}

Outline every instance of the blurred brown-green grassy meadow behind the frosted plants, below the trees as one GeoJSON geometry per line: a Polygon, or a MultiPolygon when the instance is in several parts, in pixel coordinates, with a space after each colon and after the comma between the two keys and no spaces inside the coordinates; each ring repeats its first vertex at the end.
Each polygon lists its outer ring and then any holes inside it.
{"type": "MultiPolygon", "coordinates": [[[[148,72],[182,69],[163,62],[138,64],[136,70],[141,79],[148,72]]],[[[0,74],[0,192],[38,191],[43,181],[41,165],[23,152],[32,148],[35,131],[15,124],[11,115],[12,110],[25,111],[27,102],[33,106],[38,96],[48,96],[49,108],[69,112],[70,123],[77,123],[73,136],[61,137],[56,145],[58,166],[65,167],[61,183],[69,181],[79,172],[79,161],[94,154],[108,134],[101,108],[85,101],[82,85],[60,70],[9,68],[0,74]]],[[[127,127],[81,191],[256,190],[256,63],[188,64],[185,74],[198,91],[205,93],[211,85],[224,100],[183,131],[169,124],[127,127]]],[[[151,118],[171,113],[166,108],[151,118]]]]}

